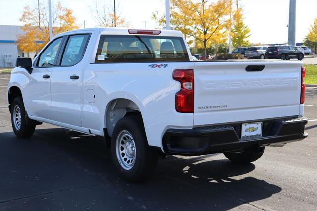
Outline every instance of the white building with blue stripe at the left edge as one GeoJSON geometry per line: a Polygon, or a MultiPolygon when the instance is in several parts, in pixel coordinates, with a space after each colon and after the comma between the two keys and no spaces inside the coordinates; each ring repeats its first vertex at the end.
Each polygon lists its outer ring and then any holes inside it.
{"type": "Polygon", "coordinates": [[[31,57],[35,53],[23,53],[17,46],[17,36],[23,34],[21,26],[0,25],[0,68],[14,67],[20,57],[31,57]]]}

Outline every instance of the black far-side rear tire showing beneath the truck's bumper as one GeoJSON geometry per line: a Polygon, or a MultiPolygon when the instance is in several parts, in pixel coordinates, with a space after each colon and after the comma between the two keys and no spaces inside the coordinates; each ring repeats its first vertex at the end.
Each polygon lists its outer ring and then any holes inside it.
{"type": "Polygon", "coordinates": [[[245,149],[243,152],[227,152],[223,153],[233,163],[247,164],[261,158],[265,147],[258,148],[260,152],[254,152],[251,148],[245,149]]]}

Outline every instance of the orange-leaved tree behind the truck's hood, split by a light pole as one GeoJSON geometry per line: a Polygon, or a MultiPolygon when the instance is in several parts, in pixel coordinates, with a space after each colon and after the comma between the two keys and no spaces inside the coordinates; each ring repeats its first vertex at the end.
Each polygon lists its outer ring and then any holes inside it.
{"type": "MultiPolygon", "coordinates": [[[[49,35],[49,15],[46,5],[41,4],[40,8],[31,9],[24,7],[20,21],[24,22],[22,30],[25,32],[18,36],[18,47],[23,52],[39,52],[50,40],[49,35]]],[[[63,8],[58,2],[52,11],[52,34],[57,35],[62,32],[78,29],[76,18],[72,10],[63,8]]]]}

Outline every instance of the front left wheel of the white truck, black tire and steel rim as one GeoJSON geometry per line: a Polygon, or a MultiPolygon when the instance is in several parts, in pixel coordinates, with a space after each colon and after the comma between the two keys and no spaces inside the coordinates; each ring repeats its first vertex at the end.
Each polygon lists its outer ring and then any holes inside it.
{"type": "Polygon", "coordinates": [[[11,106],[11,123],[15,135],[19,138],[29,138],[35,130],[35,124],[27,121],[26,115],[22,97],[16,97],[11,106]]]}

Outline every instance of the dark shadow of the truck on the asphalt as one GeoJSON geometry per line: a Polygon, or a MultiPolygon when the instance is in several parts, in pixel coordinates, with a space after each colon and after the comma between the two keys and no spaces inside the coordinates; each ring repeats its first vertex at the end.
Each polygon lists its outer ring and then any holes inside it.
{"type": "Polygon", "coordinates": [[[212,155],[167,156],[145,183],[121,179],[102,137],[62,128],[38,129],[29,140],[0,134],[0,210],[228,210],[281,188],[212,155]]]}

